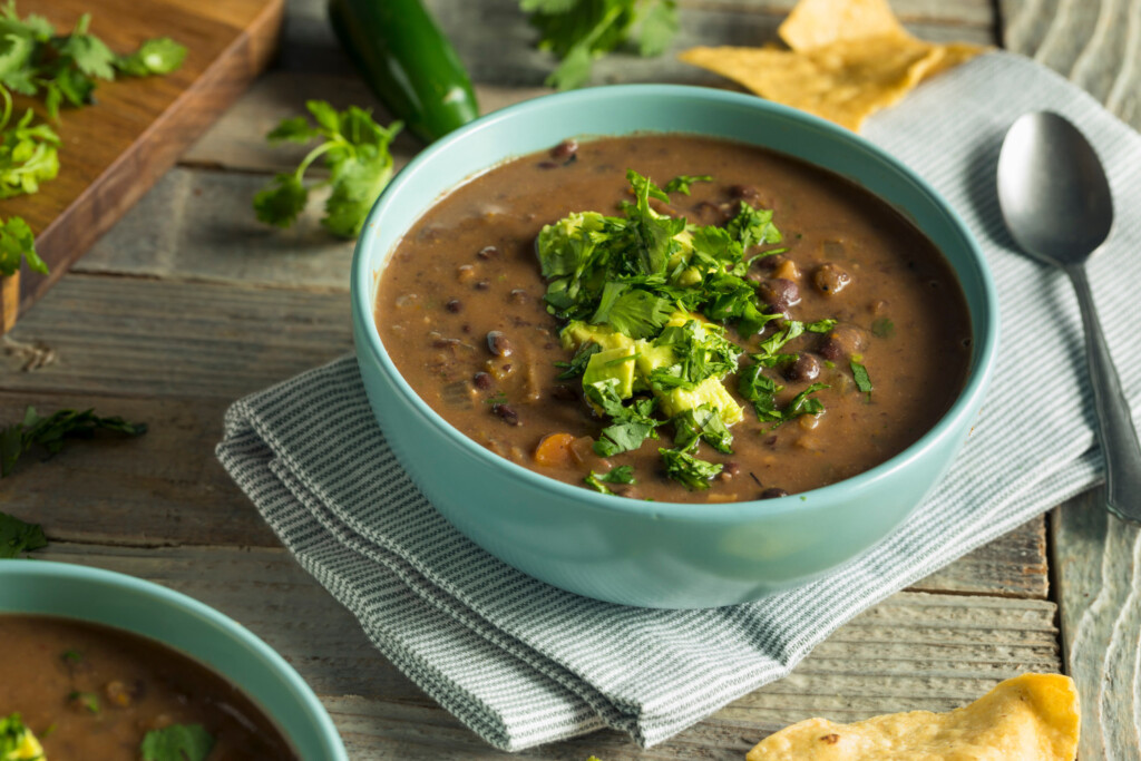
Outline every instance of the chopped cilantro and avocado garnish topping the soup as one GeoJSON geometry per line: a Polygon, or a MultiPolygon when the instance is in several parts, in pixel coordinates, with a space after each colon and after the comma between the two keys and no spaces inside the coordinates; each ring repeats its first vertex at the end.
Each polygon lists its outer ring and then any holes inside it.
{"type": "MultiPolygon", "coordinates": [[[[730,428],[744,419],[726,389],[752,403],[758,420],[772,426],[824,406],[814,383],[783,407],[783,390],[767,374],[798,359],[785,347],[809,333],[826,333],[835,319],[802,323],[761,303],[746,275],[759,257],[783,241],[772,212],[742,202],[725,227],[690,225],[650,208],[669,196],[649,178],[629,171],[633,201],[622,217],[575,212],[539,235],[536,252],[548,282],[548,311],[566,321],[563,346],[574,350],[560,380],[582,377],[586,400],[609,421],[594,453],[609,458],[637,450],[657,428],[673,428],[673,448],[661,448],[666,473],[689,488],[706,488],[721,465],[696,458],[698,442],[733,453],[730,428]],[[756,341],[752,362],[730,340],[756,341]],[[755,339],[754,339],[755,337],[755,339]]],[[[705,177],[681,177],[680,191],[705,177]]],[[[598,487],[588,478],[588,483],[598,487]]]]}

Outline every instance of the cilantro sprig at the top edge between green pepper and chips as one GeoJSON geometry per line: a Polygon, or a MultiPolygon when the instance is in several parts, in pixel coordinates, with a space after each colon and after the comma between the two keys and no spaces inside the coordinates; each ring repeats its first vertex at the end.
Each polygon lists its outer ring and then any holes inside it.
{"type": "Polygon", "coordinates": [[[547,78],[560,90],[590,81],[596,58],[626,46],[658,56],[678,32],[675,0],[519,0],[519,7],[539,30],[539,49],[560,59],[547,78]]]}

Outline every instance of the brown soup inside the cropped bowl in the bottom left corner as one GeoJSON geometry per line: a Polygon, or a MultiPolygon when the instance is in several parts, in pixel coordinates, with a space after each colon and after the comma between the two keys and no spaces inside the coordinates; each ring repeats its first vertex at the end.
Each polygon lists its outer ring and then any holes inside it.
{"type": "Polygon", "coordinates": [[[152,640],[80,621],[0,614],[0,719],[18,713],[49,761],[137,761],[145,740],[167,751],[179,743],[209,747],[189,756],[207,761],[297,758],[234,686],[152,640]]]}

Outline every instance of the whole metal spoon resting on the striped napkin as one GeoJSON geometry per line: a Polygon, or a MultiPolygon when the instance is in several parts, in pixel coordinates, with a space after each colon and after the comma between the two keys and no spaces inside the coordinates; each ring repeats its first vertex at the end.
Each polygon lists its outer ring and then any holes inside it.
{"type": "Polygon", "coordinates": [[[1019,246],[1061,267],[1074,283],[1106,459],[1106,500],[1119,518],[1141,523],[1141,445],[1085,272],[1114,224],[1114,201],[1098,154],[1058,114],[1019,118],[998,155],[998,205],[1019,246]]]}

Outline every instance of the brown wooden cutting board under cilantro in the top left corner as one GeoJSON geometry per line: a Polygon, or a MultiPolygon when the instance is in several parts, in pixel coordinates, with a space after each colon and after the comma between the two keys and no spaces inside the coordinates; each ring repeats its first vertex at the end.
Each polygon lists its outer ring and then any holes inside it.
{"type": "Polygon", "coordinates": [[[40,275],[25,266],[16,283],[0,278],[0,333],[17,307],[24,311],[43,296],[266,67],[283,9],[284,0],[19,0],[21,16],[39,14],[58,30],[89,13],[90,32],[115,52],[169,37],[188,54],[172,74],[99,82],[94,106],[60,108],[54,124],[63,141],[59,176],[34,195],[0,201],[0,217],[27,220],[51,268],[40,275]]]}

